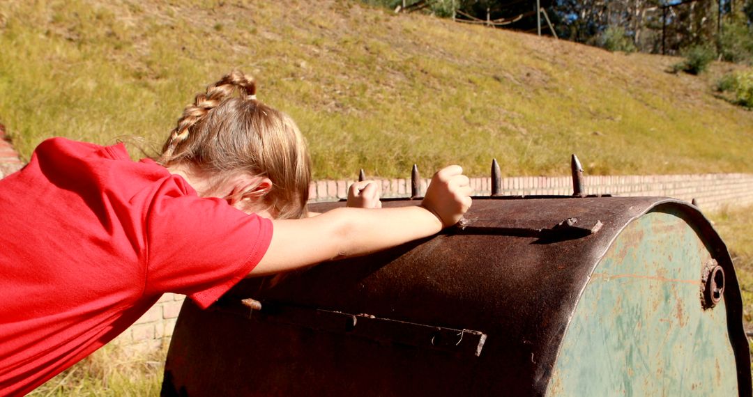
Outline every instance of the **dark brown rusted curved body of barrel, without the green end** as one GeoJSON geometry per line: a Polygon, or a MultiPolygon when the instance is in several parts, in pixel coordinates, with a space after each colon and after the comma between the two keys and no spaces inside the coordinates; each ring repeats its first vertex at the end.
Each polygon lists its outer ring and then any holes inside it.
{"type": "Polygon", "coordinates": [[[697,208],[668,198],[474,200],[463,228],[244,280],[207,311],[187,302],[163,394],[546,395],[599,261],[626,225],[664,211],[690,225],[724,271],[717,292],[736,380],[740,395],[751,394],[739,286],[724,243],[697,208]],[[261,311],[241,303],[248,298],[261,311]]]}

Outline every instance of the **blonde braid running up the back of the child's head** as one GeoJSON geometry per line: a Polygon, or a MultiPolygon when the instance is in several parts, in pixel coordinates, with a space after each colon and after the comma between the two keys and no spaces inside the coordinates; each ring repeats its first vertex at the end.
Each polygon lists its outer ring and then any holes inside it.
{"type": "Polygon", "coordinates": [[[194,104],[184,108],[183,114],[178,119],[178,125],[170,132],[170,138],[162,148],[160,163],[166,165],[180,157],[181,150],[176,151],[176,149],[181,142],[188,139],[193,127],[199,124],[209,111],[217,108],[225,99],[231,98],[236,88],[244,94],[245,99],[256,99],[255,80],[241,71],[231,71],[216,83],[207,86],[206,92],[198,93],[194,98],[194,104]]]}

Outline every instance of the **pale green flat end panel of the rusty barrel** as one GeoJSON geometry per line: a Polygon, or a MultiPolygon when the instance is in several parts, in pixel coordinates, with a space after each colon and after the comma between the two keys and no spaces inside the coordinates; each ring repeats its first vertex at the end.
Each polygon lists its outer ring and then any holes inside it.
{"type": "Polygon", "coordinates": [[[675,214],[626,226],[581,295],[547,395],[738,395],[724,299],[701,305],[710,259],[675,214]]]}

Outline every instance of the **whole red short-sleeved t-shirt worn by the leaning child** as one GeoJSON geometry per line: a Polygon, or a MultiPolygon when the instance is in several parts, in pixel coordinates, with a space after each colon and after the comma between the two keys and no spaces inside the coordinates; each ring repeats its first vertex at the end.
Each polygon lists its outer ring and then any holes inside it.
{"type": "Polygon", "coordinates": [[[102,347],[163,292],[212,305],[271,238],[270,220],[200,198],[123,144],[44,141],[0,180],[0,395],[102,347]]]}

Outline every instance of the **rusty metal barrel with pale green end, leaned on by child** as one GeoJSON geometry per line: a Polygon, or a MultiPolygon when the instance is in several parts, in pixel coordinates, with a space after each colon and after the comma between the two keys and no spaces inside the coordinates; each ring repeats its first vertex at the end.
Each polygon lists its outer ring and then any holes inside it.
{"type": "Polygon", "coordinates": [[[186,302],[163,395],[751,395],[748,354],[693,205],[492,196],[432,238],[186,302]]]}

